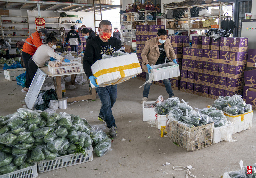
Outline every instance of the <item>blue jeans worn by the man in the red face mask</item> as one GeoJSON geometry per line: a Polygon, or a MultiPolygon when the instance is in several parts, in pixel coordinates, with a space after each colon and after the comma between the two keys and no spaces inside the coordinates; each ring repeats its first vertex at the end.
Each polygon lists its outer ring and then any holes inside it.
{"type": "Polygon", "coordinates": [[[116,102],[117,85],[95,88],[101,101],[101,109],[99,116],[105,120],[107,127],[116,126],[115,118],[112,113],[112,107],[116,102]]]}

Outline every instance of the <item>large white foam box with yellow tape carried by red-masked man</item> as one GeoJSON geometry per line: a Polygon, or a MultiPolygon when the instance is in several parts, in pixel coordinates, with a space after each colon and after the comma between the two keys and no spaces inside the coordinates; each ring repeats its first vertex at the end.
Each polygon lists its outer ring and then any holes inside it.
{"type": "Polygon", "coordinates": [[[99,87],[119,84],[142,73],[136,53],[98,60],[91,70],[99,87]]]}

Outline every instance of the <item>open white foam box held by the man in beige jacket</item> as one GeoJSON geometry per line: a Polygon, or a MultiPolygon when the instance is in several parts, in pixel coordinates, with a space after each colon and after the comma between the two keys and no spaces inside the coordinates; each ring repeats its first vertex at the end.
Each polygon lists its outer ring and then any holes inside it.
{"type": "Polygon", "coordinates": [[[154,65],[151,66],[151,68],[153,69],[153,81],[159,81],[180,76],[179,65],[173,62],[154,65]]]}

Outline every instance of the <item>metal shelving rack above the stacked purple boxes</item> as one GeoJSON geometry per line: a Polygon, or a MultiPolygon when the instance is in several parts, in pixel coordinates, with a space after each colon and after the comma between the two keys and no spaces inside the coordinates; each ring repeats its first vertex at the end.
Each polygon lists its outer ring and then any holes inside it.
{"type": "MultiPolygon", "coordinates": [[[[199,29],[193,29],[190,28],[190,24],[191,24],[191,20],[205,20],[205,19],[218,19],[219,20],[219,29],[221,28],[220,22],[222,21],[222,19],[227,18],[227,16],[223,16],[221,15],[221,13],[219,13],[218,16],[203,16],[203,17],[190,17],[190,9],[193,7],[202,7],[202,8],[209,8],[209,7],[219,7],[219,9],[222,9],[223,6],[232,6],[232,14],[231,16],[228,16],[228,18],[233,18],[233,11],[234,11],[234,7],[232,3],[223,3],[223,2],[219,2],[219,3],[211,3],[211,4],[198,4],[198,5],[191,5],[191,6],[182,6],[182,7],[171,7],[171,8],[166,8],[166,10],[172,10],[172,9],[186,9],[188,10],[188,17],[187,18],[180,18],[178,20],[188,20],[188,28],[187,29],[173,29],[173,28],[166,28],[166,30],[180,30],[180,31],[185,31],[188,30],[188,35],[190,35],[190,30],[192,31],[202,31],[202,30],[209,30],[210,28],[199,28],[199,29]]],[[[175,19],[166,19],[167,20],[175,20],[175,19]]]]}

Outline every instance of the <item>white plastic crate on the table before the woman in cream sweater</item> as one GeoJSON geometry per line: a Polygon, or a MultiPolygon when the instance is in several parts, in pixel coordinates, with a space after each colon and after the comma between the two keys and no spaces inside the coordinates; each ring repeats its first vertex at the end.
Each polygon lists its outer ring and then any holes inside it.
{"type": "Polygon", "coordinates": [[[77,72],[84,72],[83,65],[79,62],[62,62],[62,64],[76,64],[75,66],[62,66],[62,67],[51,67],[48,65],[48,70],[51,74],[70,74],[77,72]]]}

